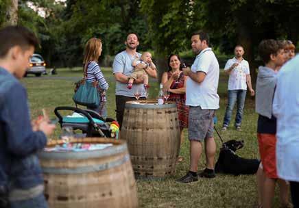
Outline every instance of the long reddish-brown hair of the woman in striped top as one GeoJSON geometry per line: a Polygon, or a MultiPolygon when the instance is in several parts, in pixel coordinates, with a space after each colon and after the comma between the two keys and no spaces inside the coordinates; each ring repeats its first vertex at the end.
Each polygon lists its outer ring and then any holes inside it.
{"type": "Polygon", "coordinates": [[[84,59],[83,64],[88,64],[88,62],[97,62],[99,59],[99,48],[101,47],[101,39],[91,38],[86,42],[84,49],[84,59]]]}

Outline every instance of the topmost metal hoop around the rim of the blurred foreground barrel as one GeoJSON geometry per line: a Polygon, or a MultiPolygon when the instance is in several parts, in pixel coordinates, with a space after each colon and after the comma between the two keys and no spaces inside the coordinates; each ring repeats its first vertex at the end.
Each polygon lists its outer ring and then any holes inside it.
{"type": "Polygon", "coordinates": [[[107,157],[110,155],[117,155],[128,150],[126,143],[113,145],[102,150],[82,151],[82,152],[46,152],[38,153],[41,159],[89,159],[98,157],[107,157]]]}

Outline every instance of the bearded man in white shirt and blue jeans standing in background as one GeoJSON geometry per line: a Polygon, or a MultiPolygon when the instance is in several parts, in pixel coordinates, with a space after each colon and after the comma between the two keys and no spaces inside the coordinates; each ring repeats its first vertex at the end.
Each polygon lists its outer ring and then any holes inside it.
{"type": "Polygon", "coordinates": [[[226,62],[224,72],[230,75],[228,79],[228,105],[222,125],[222,131],[226,131],[230,125],[232,109],[237,102],[237,114],[235,118],[235,127],[237,131],[241,131],[241,122],[243,116],[243,108],[246,98],[247,86],[251,96],[254,96],[254,90],[251,85],[249,64],[243,59],[244,49],[240,45],[235,47],[235,57],[226,62]],[[247,83],[247,86],[246,86],[247,83]]]}

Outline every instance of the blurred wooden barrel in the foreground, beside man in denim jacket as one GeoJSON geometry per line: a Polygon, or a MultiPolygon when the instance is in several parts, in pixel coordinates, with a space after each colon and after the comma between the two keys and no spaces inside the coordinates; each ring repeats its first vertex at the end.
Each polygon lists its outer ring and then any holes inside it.
{"type": "MultiPolygon", "coordinates": [[[[53,141],[49,146],[61,142],[53,141]]],[[[41,152],[40,165],[49,207],[138,207],[136,182],[125,141],[82,138],[70,142],[112,143],[113,146],[94,151],[41,152]]]]}

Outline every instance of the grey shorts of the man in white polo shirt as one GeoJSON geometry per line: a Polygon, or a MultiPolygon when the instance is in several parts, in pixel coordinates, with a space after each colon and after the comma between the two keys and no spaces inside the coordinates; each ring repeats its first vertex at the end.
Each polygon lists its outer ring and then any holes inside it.
{"type": "Polygon", "coordinates": [[[202,109],[200,106],[189,108],[189,140],[202,142],[206,138],[213,138],[213,116],[215,109],[202,109]]]}

